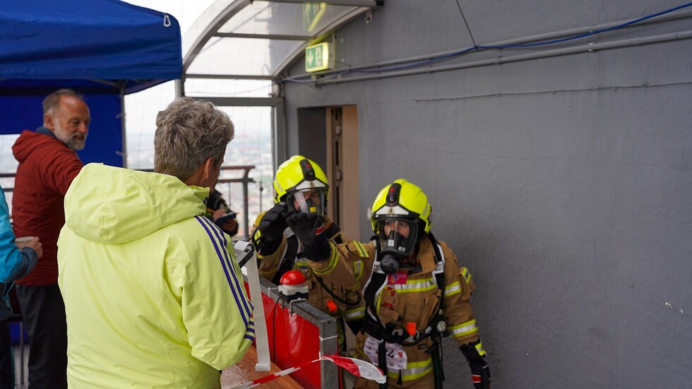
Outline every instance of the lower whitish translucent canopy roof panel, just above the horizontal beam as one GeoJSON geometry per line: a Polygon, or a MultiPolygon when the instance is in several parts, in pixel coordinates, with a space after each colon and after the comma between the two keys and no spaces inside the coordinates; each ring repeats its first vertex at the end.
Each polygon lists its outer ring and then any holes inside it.
{"type": "Polygon", "coordinates": [[[204,45],[188,73],[271,76],[304,44],[295,40],[213,37],[204,45]]]}

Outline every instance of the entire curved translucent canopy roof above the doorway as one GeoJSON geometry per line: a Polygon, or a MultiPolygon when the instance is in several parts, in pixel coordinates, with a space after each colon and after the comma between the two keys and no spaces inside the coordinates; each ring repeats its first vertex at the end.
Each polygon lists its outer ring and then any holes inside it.
{"type": "Polygon", "coordinates": [[[183,36],[183,70],[197,78],[275,78],[307,44],[378,4],[215,0],[183,36]]]}

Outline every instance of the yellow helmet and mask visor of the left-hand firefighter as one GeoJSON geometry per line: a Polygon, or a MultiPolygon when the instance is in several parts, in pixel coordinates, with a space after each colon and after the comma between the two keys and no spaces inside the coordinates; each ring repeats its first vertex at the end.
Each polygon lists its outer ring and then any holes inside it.
{"type": "Polygon", "coordinates": [[[290,157],[276,171],[274,203],[285,201],[296,211],[322,216],[328,193],[329,184],[322,168],[302,155],[290,157]]]}

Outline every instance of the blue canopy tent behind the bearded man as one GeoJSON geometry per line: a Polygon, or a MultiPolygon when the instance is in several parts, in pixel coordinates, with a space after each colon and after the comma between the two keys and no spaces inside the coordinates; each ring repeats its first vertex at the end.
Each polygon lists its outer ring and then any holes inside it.
{"type": "Polygon", "coordinates": [[[80,158],[124,166],[124,95],[181,71],[180,27],[165,13],[118,0],[0,6],[0,134],[37,128],[43,98],[72,88],[91,111],[80,158]]]}

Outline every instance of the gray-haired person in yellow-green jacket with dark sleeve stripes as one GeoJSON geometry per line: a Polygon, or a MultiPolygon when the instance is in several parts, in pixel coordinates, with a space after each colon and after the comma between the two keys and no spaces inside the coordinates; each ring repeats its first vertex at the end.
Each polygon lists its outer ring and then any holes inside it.
{"type": "Polygon", "coordinates": [[[159,112],[155,173],[88,164],[65,196],[58,284],[70,388],[220,388],[254,340],[227,234],[204,217],[233,124],[209,102],[159,112]]]}

